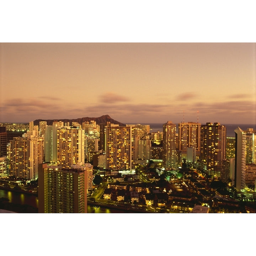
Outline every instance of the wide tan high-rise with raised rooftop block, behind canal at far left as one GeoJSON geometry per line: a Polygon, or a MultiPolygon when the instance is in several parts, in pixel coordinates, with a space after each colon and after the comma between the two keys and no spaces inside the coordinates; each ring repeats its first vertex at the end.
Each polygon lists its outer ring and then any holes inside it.
{"type": "Polygon", "coordinates": [[[38,165],[44,161],[44,138],[33,135],[33,132],[10,140],[10,174],[15,177],[27,180],[38,178],[38,165]]]}

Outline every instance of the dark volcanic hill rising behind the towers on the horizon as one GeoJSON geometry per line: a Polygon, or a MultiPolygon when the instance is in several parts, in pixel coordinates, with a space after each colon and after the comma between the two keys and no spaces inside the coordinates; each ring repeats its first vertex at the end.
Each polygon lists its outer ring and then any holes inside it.
{"type": "Polygon", "coordinates": [[[119,126],[126,126],[125,124],[112,119],[109,115],[104,115],[101,117],[82,117],[82,118],[77,118],[77,119],[54,119],[54,120],[36,119],[36,120],[34,120],[34,125],[39,125],[40,121],[46,121],[47,125],[52,125],[53,122],[56,122],[56,121],[62,121],[64,123],[69,122],[70,125],[72,124],[72,122],[77,122],[79,124],[82,124],[83,122],[87,122],[87,121],[88,122],[96,121],[96,124],[110,122],[112,124],[119,124],[119,126]]]}

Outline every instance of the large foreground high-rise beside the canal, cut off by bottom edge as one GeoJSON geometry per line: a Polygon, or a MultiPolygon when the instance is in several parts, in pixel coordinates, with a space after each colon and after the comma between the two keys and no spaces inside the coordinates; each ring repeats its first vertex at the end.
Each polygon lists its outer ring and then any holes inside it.
{"type": "Polygon", "coordinates": [[[86,213],[86,168],[65,169],[41,164],[38,173],[39,213],[86,213]]]}

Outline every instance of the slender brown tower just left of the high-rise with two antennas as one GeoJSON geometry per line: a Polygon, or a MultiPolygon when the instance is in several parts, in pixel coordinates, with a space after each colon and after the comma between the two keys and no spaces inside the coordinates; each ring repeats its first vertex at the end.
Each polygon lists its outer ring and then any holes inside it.
{"type": "Polygon", "coordinates": [[[168,121],[163,124],[163,167],[173,169],[176,167],[176,124],[168,121]]]}

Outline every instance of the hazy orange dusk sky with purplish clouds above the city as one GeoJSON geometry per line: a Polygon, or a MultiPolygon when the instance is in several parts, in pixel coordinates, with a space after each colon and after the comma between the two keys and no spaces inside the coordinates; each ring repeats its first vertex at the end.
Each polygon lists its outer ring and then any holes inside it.
{"type": "Polygon", "coordinates": [[[0,122],[255,123],[255,43],[1,43],[0,122]]]}

